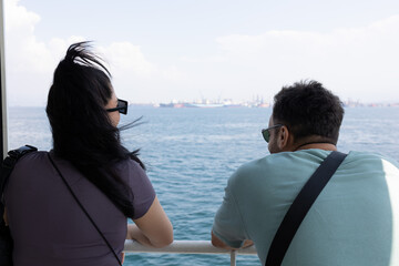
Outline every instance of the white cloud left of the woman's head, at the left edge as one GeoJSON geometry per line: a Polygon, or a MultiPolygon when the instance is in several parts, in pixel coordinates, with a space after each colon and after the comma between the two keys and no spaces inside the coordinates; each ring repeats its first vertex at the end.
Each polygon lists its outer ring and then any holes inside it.
{"type": "Polygon", "coordinates": [[[39,41],[34,34],[40,16],[18,0],[4,1],[7,94],[10,105],[43,105],[52,72],[71,41],[39,41]]]}

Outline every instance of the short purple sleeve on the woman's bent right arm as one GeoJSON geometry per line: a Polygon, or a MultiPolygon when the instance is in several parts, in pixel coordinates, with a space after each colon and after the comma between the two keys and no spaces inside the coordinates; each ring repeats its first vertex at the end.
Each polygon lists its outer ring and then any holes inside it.
{"type": "Polygon", "coordinates": [[[123,174],[133,192],[133,219],[141,218],[150,209],[155,198],[155,191],[144,170],[133,160],[129,160],[126,172],[123,174]]]}

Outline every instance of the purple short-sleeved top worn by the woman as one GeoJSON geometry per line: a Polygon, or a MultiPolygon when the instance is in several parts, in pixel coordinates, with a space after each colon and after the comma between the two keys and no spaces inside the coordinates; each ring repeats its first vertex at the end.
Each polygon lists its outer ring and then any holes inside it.
{"type": "MultiPolygon", "coordinates": [[[[50,155],[82,205],[121,256],[127,218],[68,161],[50,155]]],[[[142,217],[155,192],[141,166],[126,160],[115,165],[133,191],[134,217],[142,217]]],[[[116,258],[76,204],[47,152],[23,156],[4,192],[9,226],[14,239],[16,266],[112,266],[116,258]]]]}

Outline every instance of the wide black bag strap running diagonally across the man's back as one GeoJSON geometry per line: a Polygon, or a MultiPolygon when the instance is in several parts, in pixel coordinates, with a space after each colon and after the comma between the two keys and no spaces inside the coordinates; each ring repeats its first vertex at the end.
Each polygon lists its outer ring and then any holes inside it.
{"type": "Polygon", "coordinates": [[[282,264],[306,214],[346,156],[347,154],[345,153],[336,151],[331,152],[306,182],[284,216],[284,219],[273,238],[265,263],[266,266],[277,266],[282,264]]]}

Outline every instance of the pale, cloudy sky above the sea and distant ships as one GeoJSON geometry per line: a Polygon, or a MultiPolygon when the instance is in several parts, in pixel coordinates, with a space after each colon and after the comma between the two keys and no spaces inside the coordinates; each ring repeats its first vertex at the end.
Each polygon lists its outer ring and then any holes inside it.
{"type": "Polygon", "coordinates": [[[93,41],[132,103],[272,102],[317,80],[342,101],[399,102],[398,0],[0,0],[8,103],[45,105],[70,44],[93,41]]]}

